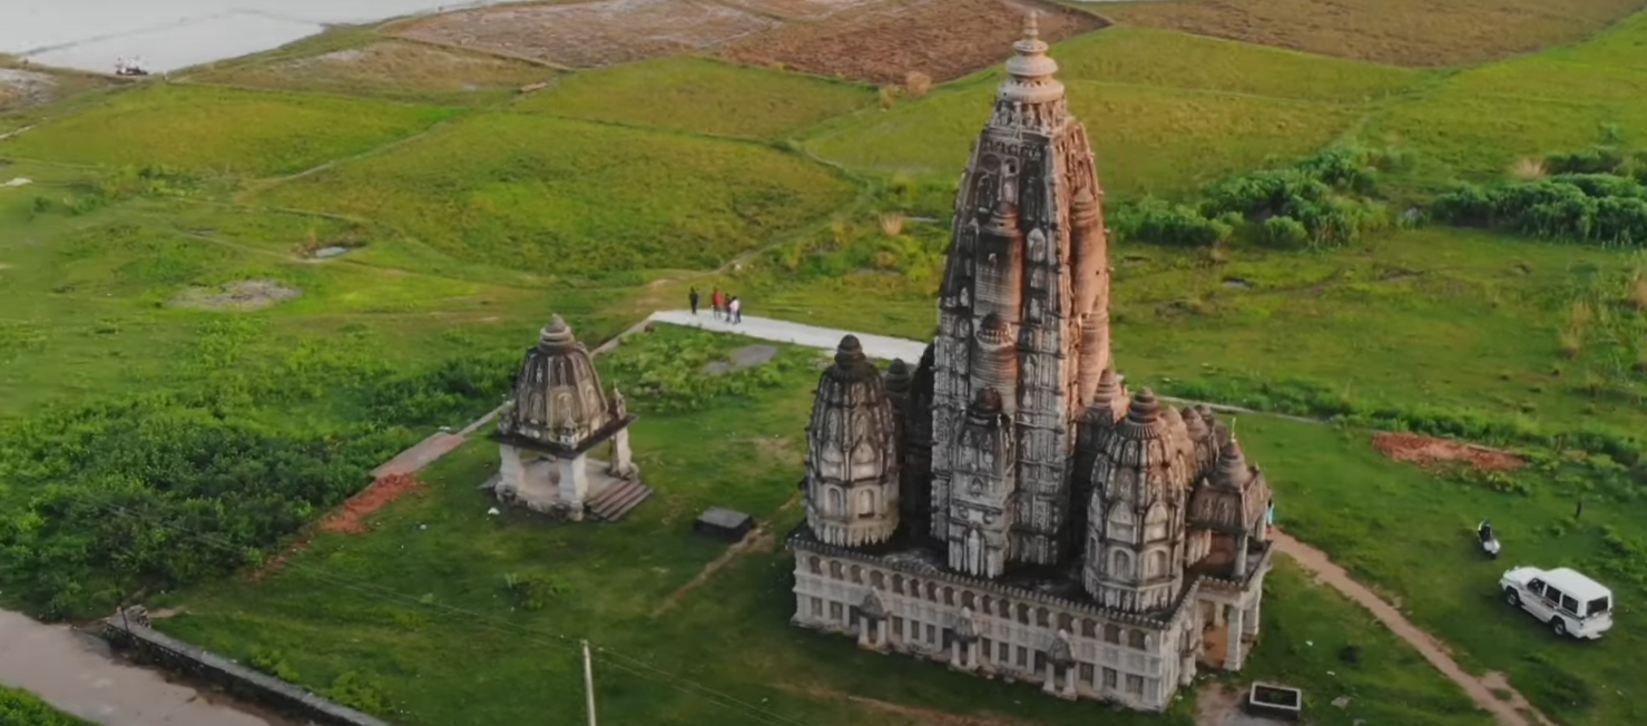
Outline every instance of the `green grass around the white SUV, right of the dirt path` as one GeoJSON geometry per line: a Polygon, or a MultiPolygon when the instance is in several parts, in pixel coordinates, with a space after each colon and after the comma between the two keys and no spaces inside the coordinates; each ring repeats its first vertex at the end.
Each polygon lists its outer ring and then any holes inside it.
{"type": "Polygon", "coordinates": [[[1420,627],[1438,632],[1453,655],[1477,673],[1502,672],[1535,706],[1565,724],[1635,723],[1647,700],[1635,682],[1644,635],[1629,603],[1647,596],[1640,581],[1603,579],[1622,609],[1596,642],[1558,640],[1547,627],[1502,603],[1497,579],[1515,565],[1598,570],[1637,555],[1606,542],[1612,527],[1634,537],[1647,515],[1632,491],[1596,491],[1568,474],[1527,472],[1527,494],[1395,464],[1367,446],[1365,431],[1342,431],[1240,418],[1242,443],[1276,492],[1276,524],[1332,553],[1357,576],[1388,593],[1420,627]],[[1589,489],[1586,492],[1586,489],[1589,489]],[[1575,500],[1588,504],[1573,520],[1575,500]],[[1499,561],[1474,540],[1491,519],[1504,542],[1499,561]]]}

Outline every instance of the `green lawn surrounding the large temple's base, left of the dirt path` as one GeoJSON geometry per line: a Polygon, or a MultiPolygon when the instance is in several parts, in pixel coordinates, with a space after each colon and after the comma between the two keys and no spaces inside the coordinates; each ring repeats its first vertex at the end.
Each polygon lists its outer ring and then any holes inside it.
{"type": "MultiPolygon", "coordinates": [[[[181,596],[175,604],[188,614],[161,627],[239,659],[264,654],[320,688],[356,672],[379,683],[384,703],[405,710],[412,724],[576,719],[576,700],[520,698],[576,691],[581,673],[570,632],[598,649],[601,719],[619,724],[768,723],[748,708],[682,696],[660,673],[692,673],[777,721],[894,724],[972,713],[1003,723],[1087,723],[1094,706],[1031,698],[1033,685],[909,667],[789,627],[794,604],[782,583],[791,565],[771,535],[682,591],[725,550],[690,533],[703,507],[754,512],[777,533],[800,515],[794,481],[817,354],[784,349],[772,362],[725,375],[748,380],[693,380],[708,359],[744,344],[659,326],[600,359],[611,385],[637,393],[637,402],[649,398],[639,395],[649,389],[636,375],[665,380],[651,397],[665,410],[639,410],[634,430],[637,463],[659,496],[619,524],[555,527],[517,514],[488,517],[488,499],[474,486],[496,471],[496,446],[474,441],[435,464],[422,489],[376,515],[371,532],[321,533],[260,583],[181,596]],[[693,392],[715,389],[721,390],[707,405],[690,413],[675,408],[693,392]],[[509,578],[537,583],[534,594],[512,591],[509,578]],[[764,677],[751,680],[751,672],[764,677]]],[[[1258,675],[1308,683],[1323,701],[1352,695],[1346,724],[1351,718],[1491,723],[1451,683],[1426,677],[1420,657],[1369,614],[1311,584],[1288,561],[1273,588],[1265,612],[1275,627],[1255,657],[1258,675]],[[1362,647],[1362,665],[1337,660],[1347,644],[1362,647]]],[[[1187,724],[1189,711],[1186,703],[1164,719],[1107,718],[1187,724]]]]}

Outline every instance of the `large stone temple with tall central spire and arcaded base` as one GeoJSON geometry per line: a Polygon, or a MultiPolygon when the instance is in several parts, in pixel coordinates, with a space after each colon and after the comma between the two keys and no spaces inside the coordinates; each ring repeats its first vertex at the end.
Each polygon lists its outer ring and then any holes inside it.
{"type": "Polygon", "coordinates": [[[1034,20],[955,199],[937,339],[840,342],[807,428],[802,627],[1164,710],[1258,637],[1270,489],[1222,421],[1130,393],[1087,132],[1034,20]]]}

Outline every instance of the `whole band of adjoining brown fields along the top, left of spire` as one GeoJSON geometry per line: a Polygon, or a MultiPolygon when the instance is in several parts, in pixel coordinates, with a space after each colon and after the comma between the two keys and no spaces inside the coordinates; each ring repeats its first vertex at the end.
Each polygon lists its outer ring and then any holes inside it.
{"type": "Polygon", "coordinates": [[[1041,13],[1047,41],[1105,25],[1031,0],[596,0],[464,10],[387,31],[570,67],[718,48],[738,63],[901,84],[1000,63],[1028,12],[1041,13]]]}

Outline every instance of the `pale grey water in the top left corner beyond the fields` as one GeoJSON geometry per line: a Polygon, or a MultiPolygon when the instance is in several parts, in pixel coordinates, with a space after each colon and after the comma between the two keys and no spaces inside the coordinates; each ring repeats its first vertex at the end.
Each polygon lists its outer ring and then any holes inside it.
{"type": "Polygon", "coordinates": [[[112,72],[152,72],[265,51],[324,30],[499,0],[0,0],[0,53],[112,72]]]}

